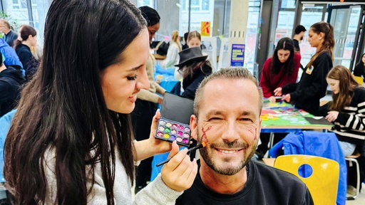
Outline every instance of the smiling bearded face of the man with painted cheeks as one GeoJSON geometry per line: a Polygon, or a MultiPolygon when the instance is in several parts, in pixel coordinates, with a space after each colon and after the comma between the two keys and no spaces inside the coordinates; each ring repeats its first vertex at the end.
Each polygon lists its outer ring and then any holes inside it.
{"type": "Polygon", "coordinates": [[[261,128],[259,99],[251,80],[215,79],[205,85],[190,127],[192,137],[207,143],[200,155],[210,169],[233,175],[251,159],[261,128]]]}

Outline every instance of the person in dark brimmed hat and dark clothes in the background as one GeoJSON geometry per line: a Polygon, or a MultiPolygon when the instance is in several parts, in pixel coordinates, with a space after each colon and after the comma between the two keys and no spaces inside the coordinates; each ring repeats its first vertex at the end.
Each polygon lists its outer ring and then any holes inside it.
{"type": "Polygon", "coordinates": [[[178,72],[183,75],[182,96],[194,100],[195,90],[202,80],[212,74],[212,65],[207,61],[206,55],[202,54],[200,47],[187,48],[179,53],[180,61],[178,72]]]}

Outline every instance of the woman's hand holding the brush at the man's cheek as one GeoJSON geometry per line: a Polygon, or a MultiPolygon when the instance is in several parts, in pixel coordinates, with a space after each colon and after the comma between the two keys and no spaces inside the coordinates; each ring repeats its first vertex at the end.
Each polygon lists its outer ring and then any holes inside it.
{"type": "Polygon", "coordinates": [[[172,149],[168,158],[170,161],[163,165],[161,169],[161,178],[163,182],[175,191],[184,191],[189,189],[197,175],[197,162],[194,159],[190,162],[187,155],[187,149],[179,152],[179,146],[176,141],[173,142],[172,149]]]}

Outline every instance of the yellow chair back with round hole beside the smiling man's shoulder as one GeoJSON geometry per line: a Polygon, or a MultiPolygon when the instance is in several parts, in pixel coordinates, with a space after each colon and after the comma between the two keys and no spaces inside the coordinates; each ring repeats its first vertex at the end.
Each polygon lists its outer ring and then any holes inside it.
{"type": "Polygon", "coordinates": [[[314,204],[336,204],[339,185],[338,162],[324,157],[289,154],[277,157],[274,167],[292,173],[299,177],[299,179],[302,179],[308,186],[314,204]],[[308,170],[310,168],[312,168],[312,175],[309,176],[308,170]],[[302,171],[306,171],[307,176],[303,176],[302,171]]]}

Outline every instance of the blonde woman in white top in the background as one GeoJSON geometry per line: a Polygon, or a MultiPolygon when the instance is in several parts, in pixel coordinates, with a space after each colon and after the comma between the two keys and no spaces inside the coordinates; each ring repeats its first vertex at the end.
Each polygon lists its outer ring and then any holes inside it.
{"type": "Polygon", "coordinates": [[[179,52],[181,51],[179,31],[173,31],[171,34],[170,46],[168,46],[168,54],[163,61],[163,67],[170,68],[179,63],[179,52]]]}

